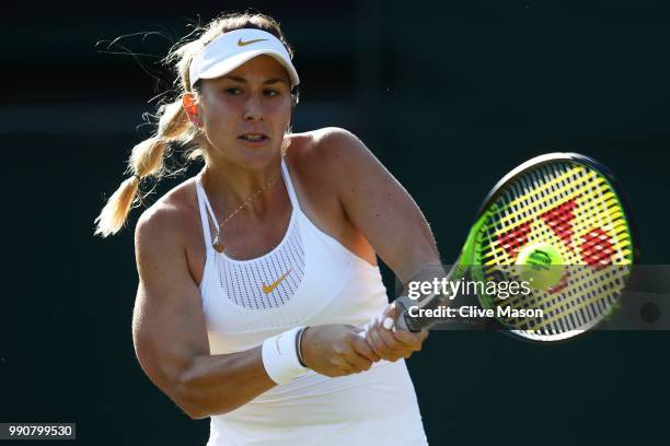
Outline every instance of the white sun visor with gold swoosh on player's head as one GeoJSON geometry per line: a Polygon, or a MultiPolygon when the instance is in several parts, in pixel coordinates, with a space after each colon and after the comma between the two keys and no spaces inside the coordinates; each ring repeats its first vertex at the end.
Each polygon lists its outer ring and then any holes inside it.
{"type": "Polygon", "coordinates": [[[261,30],[243,28],[228,32],[205,45],[190,61],[190,87],[200,79],[216,79],[240,67],[256,56],[274,57],[286,69],[291,89],[300,83],[291,57],[281,42],[261,30]]]}

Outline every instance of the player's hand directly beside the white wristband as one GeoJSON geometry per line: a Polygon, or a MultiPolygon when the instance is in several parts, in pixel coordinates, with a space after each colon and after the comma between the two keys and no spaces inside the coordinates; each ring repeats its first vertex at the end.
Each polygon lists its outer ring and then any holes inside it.
{"type": "Polygon", "coordinates": [[[369,369],[380,357],[350,325],[309,327],[302,334],[302,359],[316,373],[335,377],[369,369]]]}

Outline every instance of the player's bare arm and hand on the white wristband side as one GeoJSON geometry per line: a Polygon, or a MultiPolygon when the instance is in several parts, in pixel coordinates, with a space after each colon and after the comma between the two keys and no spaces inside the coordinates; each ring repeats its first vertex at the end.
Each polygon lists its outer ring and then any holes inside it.
{"type": "MultiPolygon", "coordinates": [[[[138,222],[140,284],[132,334],[137,357],[153,384],[190,418],[200,419],[234,410],[275,383],[265,372],[261,347],[210,354],[200,293],[188,273],[175,214],[148,211],[138,222]]],[[[322,345],[305,349],[307,365],[327,376],[358,373],[379,361],[354,327],[313,327],[305,338],[309,347],[322,345]]]]}

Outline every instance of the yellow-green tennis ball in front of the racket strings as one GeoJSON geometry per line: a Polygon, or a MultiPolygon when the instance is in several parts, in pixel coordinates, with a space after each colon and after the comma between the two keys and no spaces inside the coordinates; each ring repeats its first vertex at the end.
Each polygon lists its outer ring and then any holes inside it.
{"type": "Polygon", "coordinates": [[[519,266],[519,278],[538,291],[546,291],[556,285],[565,270],[561,251],[550,243],[523,247],[516,263],[519,266]]]}

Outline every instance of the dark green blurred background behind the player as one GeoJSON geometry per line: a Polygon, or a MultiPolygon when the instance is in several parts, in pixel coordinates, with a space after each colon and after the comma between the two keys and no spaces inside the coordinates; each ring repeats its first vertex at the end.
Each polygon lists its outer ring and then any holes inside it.
{"type": "MultiPolygon", "coordinates": [[[[198,16],[250,7],[279,20],[296,49],[294,131],[357,133],[424,210],[444,261],[507,171],[571,151],[612,168],[644,262],[668,263],[667,2],[2,7],[1,422],[76,422],[85,445],[206,443],[208,421],[181,413],[135,359],[140,211],[106,240],[93,219],[150,130],[138,128],[148,102],[172,81],[157,60],[198,16]]],[[[542,348],[442,331],[408,364],[431,444],[667,444],[669,341],[596,332],[542,348]]]]}

